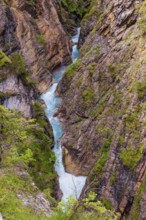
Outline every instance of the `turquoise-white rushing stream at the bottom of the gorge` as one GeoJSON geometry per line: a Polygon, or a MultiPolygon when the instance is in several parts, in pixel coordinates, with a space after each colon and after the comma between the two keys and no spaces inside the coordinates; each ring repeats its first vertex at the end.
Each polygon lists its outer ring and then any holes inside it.
{"type": "MultiPolygon", "coordinates": [[[[79,40],[80,28],[77,29],[77,35],[72,37],[72,41],[74,43],[72,48],[72,61],[74,62],[79,55],[79,51],[77,49],[77,43],[79,40]]],[[[56,154],[56,164],[55,170],[59,176],[59,184],[60,188],[63,192],[62,200],[67,199],[70,195],[78,198],[82,191],[82,188],[85,184],[86,177],[83,176],[74,176],[72,174],[66,173],[64,164],[63,164],[63,152],[61,147],[61,137],[63,135],[63,129],[61,123],[57,117],[54,117],[54,114],[57,111],[58,106],[61,103],[61,99],[55,95],[57,85],[59,81],[62,79],[63,74],[68,66],[61,66],[56,69],[53,74],[54,83],[50,87],[50,89],[41,96],[41,98],[46,103],[47,108],[45,109],[46,115],[52,125],[55,146],[53,151],[56,154]]]]}

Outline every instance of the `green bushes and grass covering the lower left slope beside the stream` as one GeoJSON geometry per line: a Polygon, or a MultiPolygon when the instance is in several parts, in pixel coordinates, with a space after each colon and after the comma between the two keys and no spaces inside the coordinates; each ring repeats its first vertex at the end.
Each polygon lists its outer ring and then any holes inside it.
{"type": "Polygon", "coordinates": [[[19,213],[25,219],[23,212],[33,219],[31,208],[25,208],[18,196],[36,194],[38,190],[32,181],[51,199],[56,181],[55,155],[51,150],[52,139],[45,134],[43,126],[35,119],[27,121],[19,113],[0,106],[0,211],[4,216],[11,215],[11,219],[17,219],[19,213]]]}

